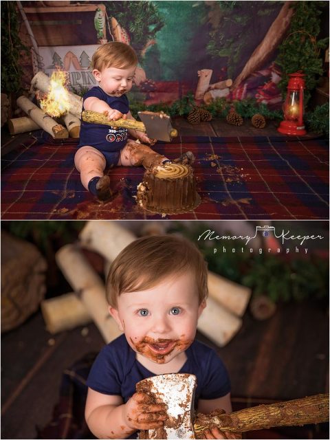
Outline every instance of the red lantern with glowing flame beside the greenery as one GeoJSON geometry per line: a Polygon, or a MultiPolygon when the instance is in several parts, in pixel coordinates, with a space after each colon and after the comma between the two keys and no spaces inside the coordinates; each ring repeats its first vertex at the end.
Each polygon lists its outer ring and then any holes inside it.
{"type": "Polygon", "coordinates": [[[289,74],[287,98],[283,105],[284,121],[278,126],[278,131],[285,135],[305,135],[304,115],[304,74],[296,72],[289,74]]]}

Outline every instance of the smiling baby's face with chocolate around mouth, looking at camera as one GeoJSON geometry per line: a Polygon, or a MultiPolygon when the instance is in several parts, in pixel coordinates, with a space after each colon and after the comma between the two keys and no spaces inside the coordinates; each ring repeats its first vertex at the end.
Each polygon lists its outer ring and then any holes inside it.
{"type": "Polygon", "coordinates": [[[135,352],[166,364],[192,344],[204,307],[199,305],[195,276],[188,272],[148,290],[121,294],[111,315],[135,352]]]}

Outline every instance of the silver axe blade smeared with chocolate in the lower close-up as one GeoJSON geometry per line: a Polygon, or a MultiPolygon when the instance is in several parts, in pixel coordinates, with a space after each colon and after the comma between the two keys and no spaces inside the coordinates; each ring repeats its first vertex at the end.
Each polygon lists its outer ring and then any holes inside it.
{"type": "Polygon", "coordinates": [[[194,397],[197,378],[192,374],[173,373],[148,377],[137,384],[137,391],[150,395],[167,406],[164,427],[144,431],[144,439],[195,439],[194,397]]]}

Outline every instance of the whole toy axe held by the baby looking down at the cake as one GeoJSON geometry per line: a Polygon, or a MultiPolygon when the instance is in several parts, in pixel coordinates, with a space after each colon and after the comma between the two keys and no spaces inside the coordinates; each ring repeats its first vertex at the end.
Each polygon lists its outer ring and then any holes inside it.
{"type": "Polygon", "coordinates": [[[109,121],[107,116],[91,110],[84,110],[83,113],[81,113],[81,118],[83,121],[91,122],[92,124],[105,124],[113,127],[143,131],[151,139],[164,140],[165,142],[170,142],[173,137],[177,136],[177,130],[173,129],[170,117],[162,111],[157,113],[153,113],[153,111],[139,111],[138,114],[142,122],[132,119],[109,121]]]}

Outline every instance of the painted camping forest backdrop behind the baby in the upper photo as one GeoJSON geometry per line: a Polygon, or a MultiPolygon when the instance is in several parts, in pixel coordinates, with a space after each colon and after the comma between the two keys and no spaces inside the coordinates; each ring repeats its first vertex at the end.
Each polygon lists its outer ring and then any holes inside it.
{"type": "Polygon", "coordinates": [[[95,85],[89,63],[98,45],[124,41],[140,61],[131,99],[170,104],[192,91],[201,102],[252,97],[275,109],[282,98],[274,61],[292,18],[289,3],[24,1],[21,39],[31,46],[28,23],[36,43],[33,63],[30,54],[22,58],[26,87],[39,70],[60,68],[83,94],[95,85]]]}

